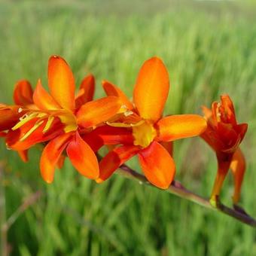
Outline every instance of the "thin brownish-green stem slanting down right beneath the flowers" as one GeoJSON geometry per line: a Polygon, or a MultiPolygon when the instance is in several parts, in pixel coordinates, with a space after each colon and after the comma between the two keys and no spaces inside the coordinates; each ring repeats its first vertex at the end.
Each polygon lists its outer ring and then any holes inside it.
{"type": "MultiPolygon", "coordinates": [[[[117,173],[123,175],[126,178],[131,178],[133,180],[139,181],[142,184],[148,184],[149,186],[154,187],[152,184],[148,182],[144,175],[139,174],[138,172],[130,169],[129,166],[122,165],[120,169],[118,169],[117,173]]],[[[169,188],[166,189],[170,194],[175,194],[178,197],[184,198],[191,202],[197,203],[200,206],[206,207],[208,209],[212,209],[218,212],[222,212],[225,215],[229,215],[236,220],[248,224],[251,227],[256,227],[256,220],[251,218],[251,216],[247,215],[245,212],[240,211],[239,209],[231,209],[227,206],[224,206],[220,201],[218,201],[216,206],[212,206],[209,203],[209,200],[206,198],[200,197],[197,194],[194,194],[190,190],[187,190],[183,187],[178,181],[173,181],[169,188]]]]}

